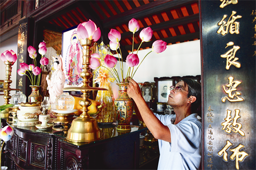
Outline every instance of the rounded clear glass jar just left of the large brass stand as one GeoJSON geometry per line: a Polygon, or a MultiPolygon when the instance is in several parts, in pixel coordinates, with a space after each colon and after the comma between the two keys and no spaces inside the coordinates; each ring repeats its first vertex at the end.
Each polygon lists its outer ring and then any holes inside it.
{"type": "Polygon", "coordinates": [[[68,92],[64,92],[56,98],[56,110],[72,111],[74,109],[75,99],[68,92]]]}

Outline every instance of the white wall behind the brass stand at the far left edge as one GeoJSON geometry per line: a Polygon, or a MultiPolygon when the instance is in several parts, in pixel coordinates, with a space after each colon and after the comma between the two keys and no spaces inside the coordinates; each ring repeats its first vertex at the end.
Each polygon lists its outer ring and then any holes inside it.
{"type": "MultiPolygon", "coordinates": [[[[6,50],[13,50],[16,54],[18,51],[18,35],[11,37],[10,39],[0,43],[0,55],[5,52],[6,50]]],[[[11,69],[11,77],[10,79],[13,81],[10,84],[10,88],[16,89],[16,77],[17,77],[17,62],[13,65],[11,69]]],[[[0,80],[5,80],[5,64],[0,59],[0,80]]],[[[15,91],[10,91],[10,95],[15,94],[15,91]]],[[[3,95],[0,95],[0,105],[3,105],[4,102],[3,95]]]]}

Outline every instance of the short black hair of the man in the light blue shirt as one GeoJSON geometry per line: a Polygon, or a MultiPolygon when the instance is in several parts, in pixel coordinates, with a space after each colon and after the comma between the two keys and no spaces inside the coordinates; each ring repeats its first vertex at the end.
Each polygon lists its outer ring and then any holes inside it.
{"type": "Polygon", "coordinates": [[[191,112],[200,114],[198,111],[201,111],[201,108],[199,108],[201,106],[201,84],[193,79],[187,78],[182,78],[182,81],[184,81],[184,85],[188,85],[188,98],[190,95],[196,97],[196,101],[191,104],[191,112]]]}

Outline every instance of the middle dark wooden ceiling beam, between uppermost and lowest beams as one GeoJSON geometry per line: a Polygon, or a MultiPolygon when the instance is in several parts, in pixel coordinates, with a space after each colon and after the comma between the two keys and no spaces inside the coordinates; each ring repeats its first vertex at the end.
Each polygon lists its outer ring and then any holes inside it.
{"type": "MultiPolygon", "coordinates": [[[[172,20],[169,20],[169,21],[157,23],[156,25],[150,26],[150,28],[153,31],[158,31],[158,30],[162,30],[162,29],[166,29],[166,28],[185,25],[187,23],[192,23],[192,22],[196,22],[196,21],[199,21],[199,14],[193,14],[193,15],[190,15],[190,16],[187,16],[187,17],[182,17],[182,18],[178,18],[178,19],[172,19],[172,20]]],[[[141,32],[141,31],[137,31],[134,34],[134,37],[138,36],[139,32],[141,32]]],[[[124,32],[124,33],[121,34],[121,37],[122,37],[122,39],[130,38],[131,34],[132,33],[130,31],[129,32],[124,32]]]]}

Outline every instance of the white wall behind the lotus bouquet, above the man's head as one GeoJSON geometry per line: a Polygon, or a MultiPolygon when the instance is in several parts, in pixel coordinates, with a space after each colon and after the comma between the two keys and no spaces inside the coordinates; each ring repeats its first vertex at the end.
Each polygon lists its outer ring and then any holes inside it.
{"type": "MultiPolygon", "coordinates": [[[[139,60],[141,61],[151,50],[139,50],[139,60]]],[[[124,65],[126,66],[125,63],[124,65]]],[[[116,68],[120,69],[119,63],[116,68]]],[[[133,79],[137,82],[154,82],[154,77],[197,75],[201,75],[200,40],[168,45],[162,53],[148,54],[133,79]]],[[[117,98],[118,86],[115,83],[112,83],[112,88],[114,97],[117,98]]]]}

